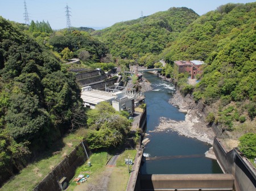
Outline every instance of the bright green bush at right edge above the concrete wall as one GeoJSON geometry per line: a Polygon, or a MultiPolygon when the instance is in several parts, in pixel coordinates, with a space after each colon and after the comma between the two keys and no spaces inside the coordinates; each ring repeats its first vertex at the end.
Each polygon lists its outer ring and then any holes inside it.
{"type": "Polygon", "coordinates": [[[256,133],[246,133],[239,139],[238,148],[249,159],[256,157],[256,133]]]}

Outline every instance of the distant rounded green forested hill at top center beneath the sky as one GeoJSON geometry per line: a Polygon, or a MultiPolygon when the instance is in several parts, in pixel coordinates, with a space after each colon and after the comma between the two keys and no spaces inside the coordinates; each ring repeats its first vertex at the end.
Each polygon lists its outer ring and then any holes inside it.
{"type": "Polygon", "coordinates": [[[191,9],[173,7],[168,11],[117,23],[92,34],[108,45],[113,56],[137,59],[138,54],[162,52],[167,43],[198,17],[191,9]]]}

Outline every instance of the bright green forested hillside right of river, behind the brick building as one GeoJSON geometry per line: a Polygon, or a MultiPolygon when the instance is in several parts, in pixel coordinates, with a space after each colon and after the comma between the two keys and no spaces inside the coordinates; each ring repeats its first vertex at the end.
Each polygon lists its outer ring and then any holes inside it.
{"type": "Polygon", "coordinates": [[[220,6],[190,24],[163,52],[172,64],[208,63],[193,95],[211,105],[209,121],[229,130],[256,131],[255,12],[256,3],[220,6]]]}

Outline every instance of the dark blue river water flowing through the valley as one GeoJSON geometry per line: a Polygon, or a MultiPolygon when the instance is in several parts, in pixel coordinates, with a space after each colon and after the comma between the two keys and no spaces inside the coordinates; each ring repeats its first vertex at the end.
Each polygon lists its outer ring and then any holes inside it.
{"type": "Polygon", "coordinates": [[[184,120],[185,113],[168,103],[175,93],[175,87],[154,74],[145,73],[152,90],[146,92],[147,129],[150,142],[144,148],[148,156],[141,168],[142,174],[184,174],[184,173],[222,173],[216,160],[205,158],[204,153],[211,145],[187,138],[175,131],[149,132],[159,124],[160,117],[171,120],[184,120]]]}

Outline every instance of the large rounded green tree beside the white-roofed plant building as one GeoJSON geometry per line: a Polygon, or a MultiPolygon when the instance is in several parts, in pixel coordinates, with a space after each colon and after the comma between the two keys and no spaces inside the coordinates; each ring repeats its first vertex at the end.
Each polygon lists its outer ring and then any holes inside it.
{"type": "Polygon", "coordinates": [[[116,112],[106,102],[101,102],[95,109],[88,111],[87,124],[90,131],[86,135],[86,141],[93,150],[117,147],[125,141],[130,128],[127,117],[116,112]]]}

